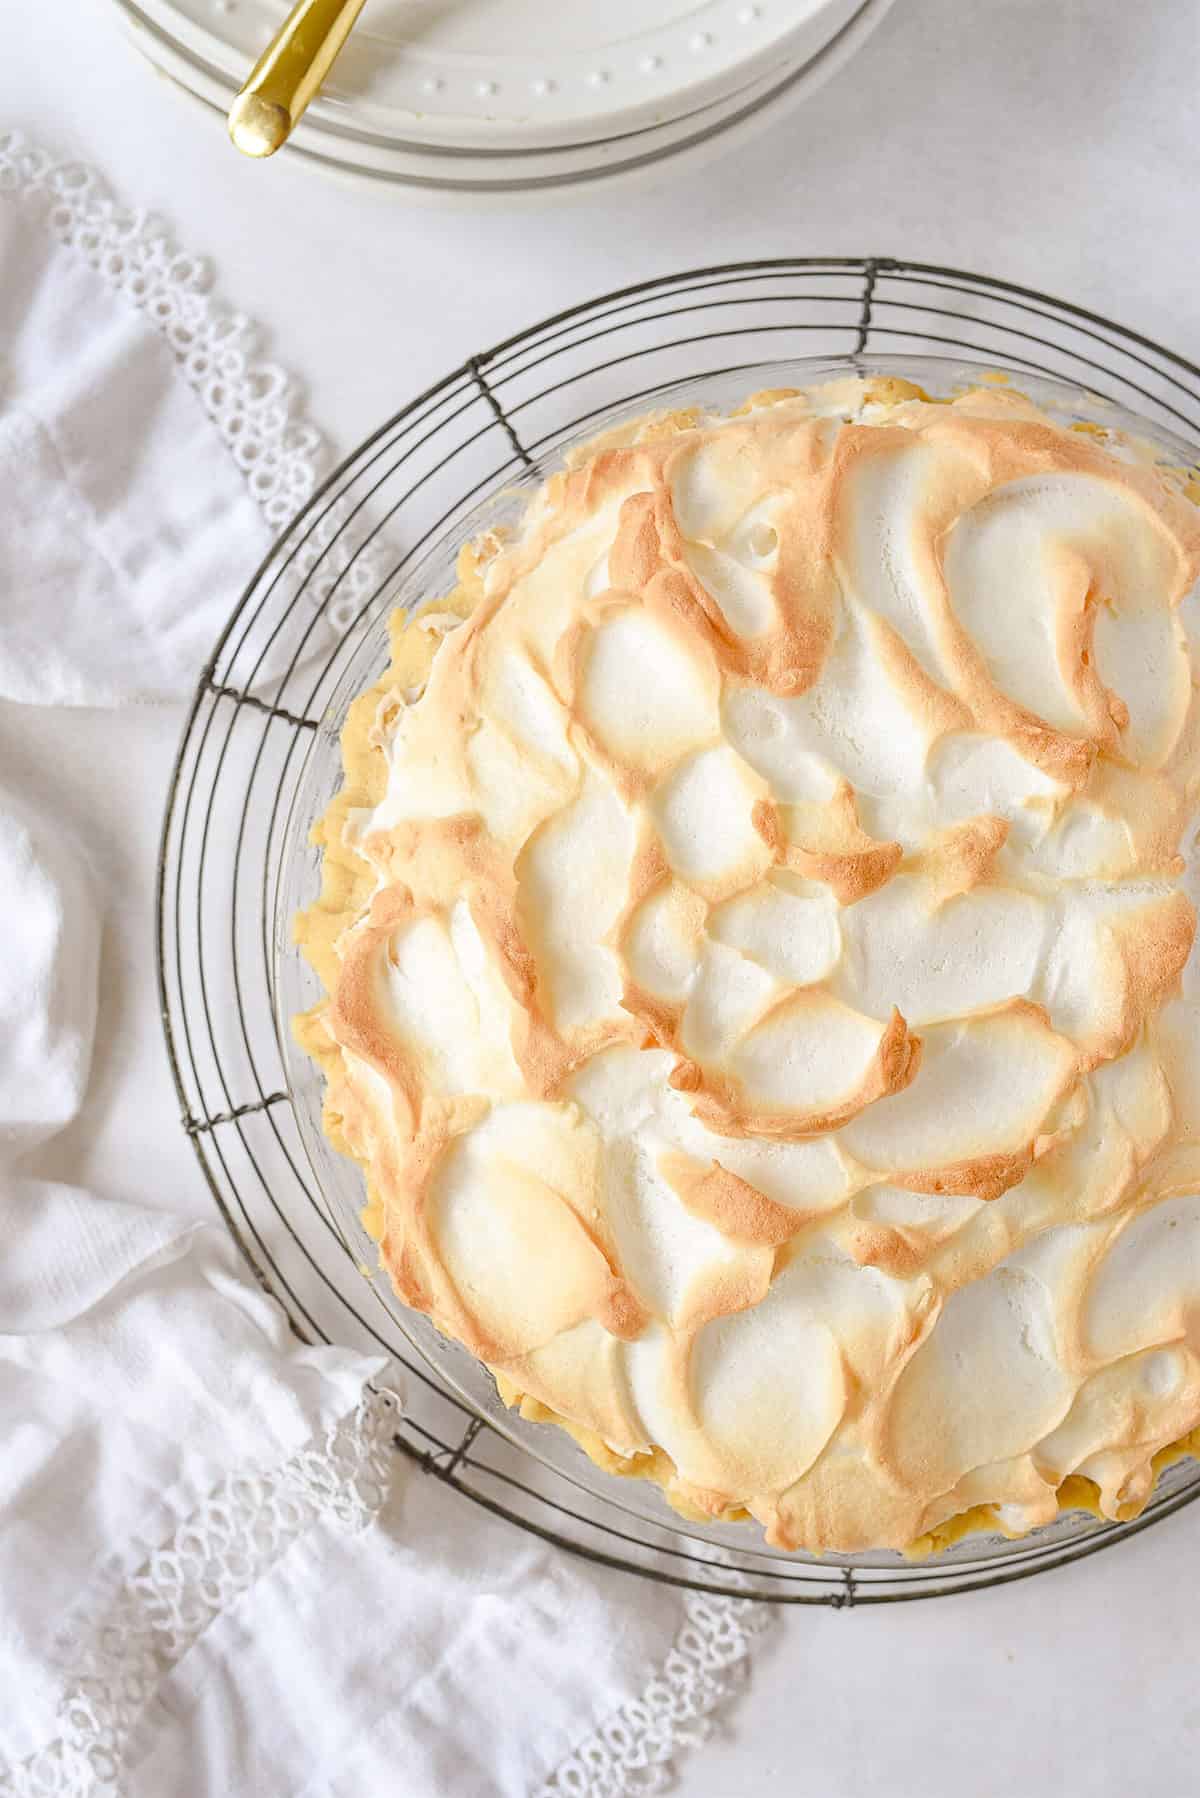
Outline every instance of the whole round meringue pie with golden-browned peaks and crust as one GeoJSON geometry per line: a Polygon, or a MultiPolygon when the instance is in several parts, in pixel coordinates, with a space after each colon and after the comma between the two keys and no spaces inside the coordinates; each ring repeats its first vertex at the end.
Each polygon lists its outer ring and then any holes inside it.
{"type": "Polygon", "coordinates": [[[1198,572],[1007,392],[576,451],[320,832],[304,1032],[401,1296],[786,1546],[1144,1503],[1200,1424],[1198,572]]]}

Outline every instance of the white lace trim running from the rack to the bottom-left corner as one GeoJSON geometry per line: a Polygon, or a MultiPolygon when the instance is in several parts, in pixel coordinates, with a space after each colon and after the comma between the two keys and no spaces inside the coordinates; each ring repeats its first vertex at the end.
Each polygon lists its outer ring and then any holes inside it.
{"type": "Polygon", "coordinates": [[[392,1393],[367,1390],[320,1446],[223,1480],[117,1588],[76,1649],[59,1739],[0,1767],[0,1798],[115,1798],[148,1705],[209,1624],[318,1519],[360,1530],[380,1512],[394,1429],[392,1393]]]}

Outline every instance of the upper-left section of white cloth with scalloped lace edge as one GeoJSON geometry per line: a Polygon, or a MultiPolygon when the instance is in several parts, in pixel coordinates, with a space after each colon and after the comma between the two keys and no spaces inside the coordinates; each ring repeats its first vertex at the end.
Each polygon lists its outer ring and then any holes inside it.
{"type": "Polygon", "coordinates": [[[0,698],[184,698],[318,433],[203,263],[0,133],[0,698]]]}

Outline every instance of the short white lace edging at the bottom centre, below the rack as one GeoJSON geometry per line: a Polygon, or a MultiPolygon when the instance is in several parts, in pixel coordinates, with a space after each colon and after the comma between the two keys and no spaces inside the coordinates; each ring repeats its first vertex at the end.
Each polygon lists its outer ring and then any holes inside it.
{"type": "Polygon", "coordinates": [[[711,1737],[714,1712],[745,1681],[750,1647],[766,1618],[766,1606],[752,1598],[689,1591],[680,1633],[642,1696],[576,1748],[538,1798],[646,1798],[667,1791],[678,1751],[711,1737]]]}

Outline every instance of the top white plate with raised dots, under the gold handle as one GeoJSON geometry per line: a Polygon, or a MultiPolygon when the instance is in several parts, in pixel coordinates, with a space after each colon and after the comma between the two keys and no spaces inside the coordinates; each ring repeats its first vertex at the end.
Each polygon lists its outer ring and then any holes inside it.
{"type": "MultiPolygon", "coordinates": [[[[137,0],[236,92],[286,0],[137,0]]],[[[815,56],[856,0],[367,0],[311,117],[453,149],[669,122],[815,56]]]]}

